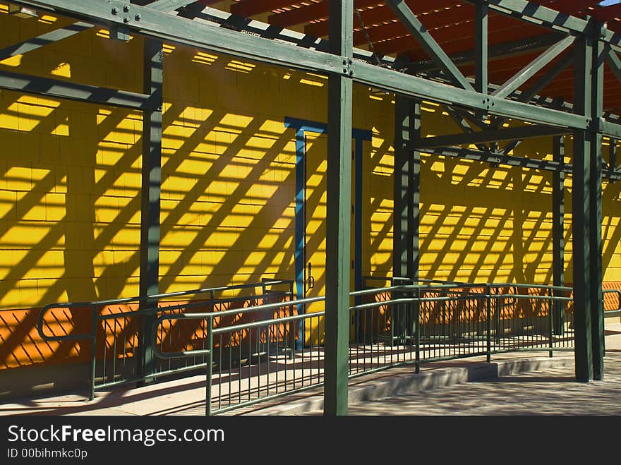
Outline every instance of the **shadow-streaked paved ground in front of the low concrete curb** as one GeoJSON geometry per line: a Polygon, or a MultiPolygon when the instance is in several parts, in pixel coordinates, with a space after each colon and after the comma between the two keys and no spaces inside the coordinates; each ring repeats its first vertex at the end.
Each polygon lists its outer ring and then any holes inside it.
{"type": "Polygon", "coordinates": [[[350,415],[621,415],[621,324],[606,324],[605,375],[577,382],[574,366],[550,367],[354,402],[350,415]]]}

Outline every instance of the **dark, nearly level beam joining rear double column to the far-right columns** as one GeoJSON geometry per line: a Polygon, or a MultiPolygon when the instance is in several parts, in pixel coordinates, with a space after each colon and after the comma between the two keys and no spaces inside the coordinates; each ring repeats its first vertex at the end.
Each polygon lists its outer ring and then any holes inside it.
{"type": "Polygon", "coordinates": [[[409,148],[418,148],[422,150],[433,147],[494,143],[502,140],[538,138],[546,135],[565,135],[569,133],[571,133],[571,131],[567,128],[556,128],[531,124],[529,126],[518,126],[517,128],[491,129],[489,131],[478,131],[473,133],[437,135],[435,137],[423,138],[415,143],[411,143],[409,148]]]}

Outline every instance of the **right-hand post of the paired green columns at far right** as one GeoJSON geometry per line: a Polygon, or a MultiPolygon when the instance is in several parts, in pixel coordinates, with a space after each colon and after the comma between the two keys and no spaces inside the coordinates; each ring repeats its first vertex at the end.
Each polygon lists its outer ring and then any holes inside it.
{"type": "MultiPolygon", "coordinates": [[[[604,44],[599,40],[601,25],[595,28],[593,38],[593,65],[591,68],[591,108],[593,119],[603,116],[604,44]]],[[[591,343],[593,344],[593,379],[604,375],[604,327],[602,303],[602,135],[593,131],[591,144],[591,186],[589,188],[591,228],[591,343]]]]}

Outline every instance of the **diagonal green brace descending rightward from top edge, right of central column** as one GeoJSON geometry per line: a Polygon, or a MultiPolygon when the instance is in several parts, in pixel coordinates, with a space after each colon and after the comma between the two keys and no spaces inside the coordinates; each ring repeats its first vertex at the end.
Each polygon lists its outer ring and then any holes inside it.
{"type": "Polygon", "coordinates": [[[414,37],[418,44],[423,47],[433,61],[435,61],[445,76],[455,85],[459,85],[464,89],[474,90],[466,77],[459,71],[459,68],[451,61],[449,56],[442,50],[442,47],[435,42],[428,30],[423,26],[421,21],[411,11],[409,6],[403,0],[387,0],[385,2],[390,7],[395,16],[401,21],[408,32],[414,37]]]}

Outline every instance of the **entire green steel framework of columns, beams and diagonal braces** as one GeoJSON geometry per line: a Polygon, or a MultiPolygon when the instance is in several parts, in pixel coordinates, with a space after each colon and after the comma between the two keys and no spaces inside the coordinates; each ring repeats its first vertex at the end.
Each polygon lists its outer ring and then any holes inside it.
{"type": "MultiPolygon", "coordinates": [[[[347,344],[349,340],[349,212],[351,183],[352,84],[397,94],[395,106],[394,273],[418,275],[418,203],[420,152],[553,171],[554,284],[562,286],[563,195],[565,174],[573,176],[572,226],[576,377],[603,377],[601,327],[601,184],[621,179],[616,166],[619,117],[603,113],[603,66],[621,80],[621,37],[595,18],[581,19],[526,0],[469,0],[475,5],[476,40],[471,53],[450,56],[435,42],[402,0],[385,3],[429,59],[410,63],[354,48],[353,0],[330,0],[330,40],[287,30],[200,2],[157,0],[145,6],[119,0],[19,0],[13,3],[76,18],[76,23],[0,50],[0,57],[28,53],[49,42],[101,25],[123,39],[145,40],[143,93],[102,89],[49,78],[0,73],[0,87],[84,102],[144,111],[143,222],[140,253],[141,294],[157,294],[159,262],[159,162],[162,142],[162,41],[239,56],[328,76],[329,147],[327,170],[327,296],[325,413],[347,410],[347,344]],[[506,44],[488,44],[490,11],[543,25],[550,35],[506,44]],[[223,26],[223,27],[219,27],[223,26]],[[488,62],[524,50],[541,54],[505,83],[488,82],[488,62]],[[555,61],[555,64],[552,62],[555,61]],[[457,67],[474,63],[475,79],[457,67]],[[538,96],[559,73],[574,64],[574,104],[538,96]],[[551,64],[551,65],[550,65],[551,64]],[[550,65],[550,66],[548,66],[550,65]],[[547,70],[533,81],[538,73],[547,70]],[[522,89],[526,83],[529,87],[522,89]],[[421,100],[444,105],[462,133],[421,138],[421,100]],[[530,123],[505,128],[507,120],[530,123]],[[574,160],[565,164],[563,136],[574,140],[574,160]],[[509,155],[521,140],[553,138],[554,159],[543,161],[509,155]],[[604,164],[602,139],[610,138],[610,163],[604,164]],[[499,141],[507,141],[500,147],[499,141]],[[476,145],[460,147],[462,145],[476,145]]],[[[140,3],[145,3],[140,2],[140,3]]],[[[209,3],[209,2],[207,2],[209,3]]],[[[250,5],[252,2],[243,2],[250,5]]],[[[234,11],[241,10],[237,4],[234,11]]],[[[152,363],[143,343],[143,369],[152,363]]]]}

